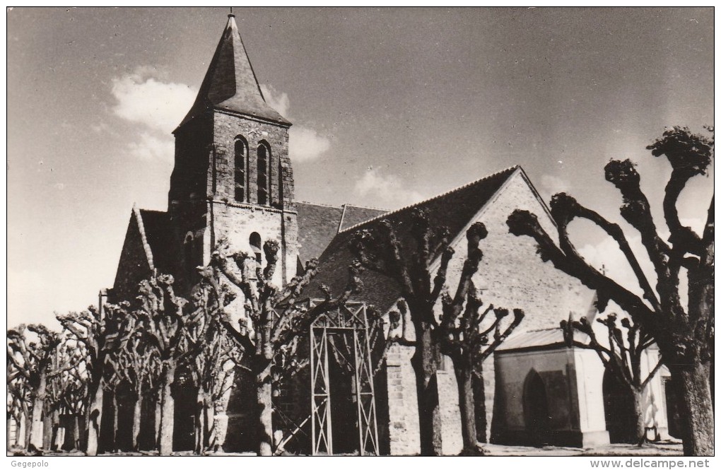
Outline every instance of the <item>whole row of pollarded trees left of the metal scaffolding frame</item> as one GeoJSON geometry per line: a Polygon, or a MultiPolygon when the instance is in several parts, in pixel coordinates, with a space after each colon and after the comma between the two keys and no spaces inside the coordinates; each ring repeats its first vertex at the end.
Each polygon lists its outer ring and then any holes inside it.
{"type": "Polygon", "coordinates": [[[175,293],[172,276],[156,275],[138,286],[133,303],[58,316],[59,334],[40,325],[9,330],[8,427],[11,419],[26,422],[25,448],[50,450],[58,415],[70,414],[76,420],[72,448],[87,455],[117,451],[125,401],[132,410],[131,443],[122,450],[137,451],[141,435],[151,434],[150,448],[169,455],[175,396],[185,387],[197,396],[195,453],[216,451],[225,440],[229,391],[243,368],[255,390],[255,407],[249,407],[256,410],[255,447],[260,455],[272,455],[273,391],[306,365],[296,355],[298,339],[317,316],[358,292],[359,280],[358,267],[351,266],[345,293],[309,309],[300,296],[317,262],[278,288],[270,283],[278,243],[267,241],[263,249],[266,266],[250,272],[255,263],[247,262],[247,254],[229,253],[221,244],[187,298],[175,293]],[[245,310],[239,328],[226,311],[237,291],[245,310]],[[154,413],[143,411],[148,405],[154,413]],[[101,433],[107,429],[110,435],[101,433]]]}

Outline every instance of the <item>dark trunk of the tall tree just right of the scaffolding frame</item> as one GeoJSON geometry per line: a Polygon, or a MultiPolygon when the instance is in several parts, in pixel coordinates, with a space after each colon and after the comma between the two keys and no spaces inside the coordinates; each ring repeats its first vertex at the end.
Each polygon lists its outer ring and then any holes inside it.
{"type": "Polygon", "coordinates": [[[416,329],[417,346],[411,360],[415,372],[418,399],[418,425],[420,427],[420,455],[440,456],[443,453],[441,438],[441,409],[438,405],[438,345],[433,342],[430,327],[416,329]]]}

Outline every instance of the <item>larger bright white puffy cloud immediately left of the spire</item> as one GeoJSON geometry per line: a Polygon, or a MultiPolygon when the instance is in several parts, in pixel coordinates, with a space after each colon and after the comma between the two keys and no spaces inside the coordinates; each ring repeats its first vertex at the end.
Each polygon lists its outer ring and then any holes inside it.
{"type": "Polygon", "coordinates": [[[112,112],[132,123],[170,133],[190,110],[198,90],[159,81],[150,73],[149,68],[138,68],[133,74],[113,79],[112,96],[118,102],[112,112]]]}

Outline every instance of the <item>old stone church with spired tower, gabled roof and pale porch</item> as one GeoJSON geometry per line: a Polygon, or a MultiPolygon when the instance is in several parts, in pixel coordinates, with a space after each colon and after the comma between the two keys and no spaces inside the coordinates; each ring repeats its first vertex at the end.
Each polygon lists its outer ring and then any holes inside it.
{"type": "MultiPolygon", "coordinates": [[[[133,207],[108,300],[134,298],[138,283],[154,273],[172,274],[178,290],[187,292],[199,280],[195,267],[209,262],[221,239],[231,251],[255,253],[261,264],[263,242],[278,241],[276,285],[288,283],[306,261],[317,258],[315,284],[324,283],[337,294],[353,259],[349,237],[381,220],[400,226],[416,208],[423,208],[433,224],[450,231],[456,256],[448,268],[448,285],[453,286],[464,262],[460,254],[465,232],[480,221],[489,234],[480,246],[484,257],[474,284],[484,303],[526,312],[516,332],[483,365],[488,426],[487,436],[479,436],[480,440],[578,447],[623,440],[627,423],[622,413],[611,409],[622,409],[617,405],[624,394],[604,373],[596,353],[567,348],[558,327],[569,316],[585,316],[593,322],[598,314],[594,293],[542,262],[531,239],[508,232],[505,221],[519,208],[535,213],[547,233],[556,232],[547,205],[521,167],[499,169],[392,212],[305,203],[294,198],[290,127],[265,101],[234,15],[229,15],[198,97],[174,130],[167,211],[133,207]]],[[[387,316],[396,308],[399,288],[393,280],[366,270],[357,297],[353,301],[372,304],[387,316]]],[[[412,347],[394,345],[374,381],[379,453],[420,451],[411,355],[412,347]]],[[[657,357],[654,350],[647,351],[644,367],[653,368],[657,357]]],[[[452,367],[444,359],[438,371],[443,453],[448,455],[459,453],[462,444],[452,367]]],[[[663,374],[657,374],[644,399],[647,426],[667,437],[663,380],[663,374]]],[[[242,439],[234,437],[244,433],[243,414],[242,402],[229,407],[226,451],[243,450],[242,439]]]]}

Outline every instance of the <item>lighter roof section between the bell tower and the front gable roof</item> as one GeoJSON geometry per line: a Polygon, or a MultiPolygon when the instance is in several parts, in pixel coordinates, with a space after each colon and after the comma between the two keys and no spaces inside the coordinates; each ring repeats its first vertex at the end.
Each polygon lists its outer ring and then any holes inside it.
{"type": "Polygon", "coordinates": [[[302,262],[320,257],[339,228],[367,221],[386,213],[386,210],[361,208],[344,204],[340,207],[312,203],[296,203],[298,210],[299,254],[302,262]]]}

